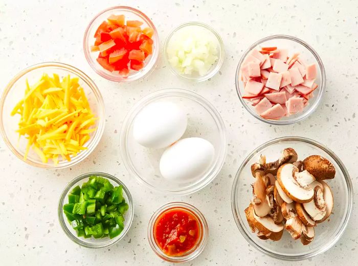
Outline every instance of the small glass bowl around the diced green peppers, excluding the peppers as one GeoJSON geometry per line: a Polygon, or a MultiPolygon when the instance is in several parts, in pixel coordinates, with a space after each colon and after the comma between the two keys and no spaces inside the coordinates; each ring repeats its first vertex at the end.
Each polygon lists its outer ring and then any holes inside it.
{"type": "Polygon", "coordinates": [[[100,173],[100,172],[93,172],[93,173],[87,173],[83,174],[79,177],[76,177],[74,180],[72,180],[62,191],[60,200],[58,201],[58,220],[60,222],[61,228],[63,232],[76,244],[81,245],[86,248],[94,248],[94,249],[100,249],[100,248],[107,248],[113,244],[118,243],[119,240],[121,240],[125,234],[128,232],[134,217],[134,207],[133,207],[133,199],[132,196],[129,193],[128,188],[116,177],[100,173]],[[108,237],[104,238],[83,238],[78,237],[76,234],[76,230],[74,230],[71,227],[71,224],[67,221],[67,217],[63,213],[63,205],[68,203],[68,196],[70,194],[70,191],[77,185],[81,186],[86,179],[89,179],[90,176],[100,176],[104,177],[109,180],[109,182],[114,186],[122,185],[123,187],[123,197],[128,204],[129,208],[127,212],[124,214],[124,229],[120,233],[120,235],[110,239],[108,237]]]}

